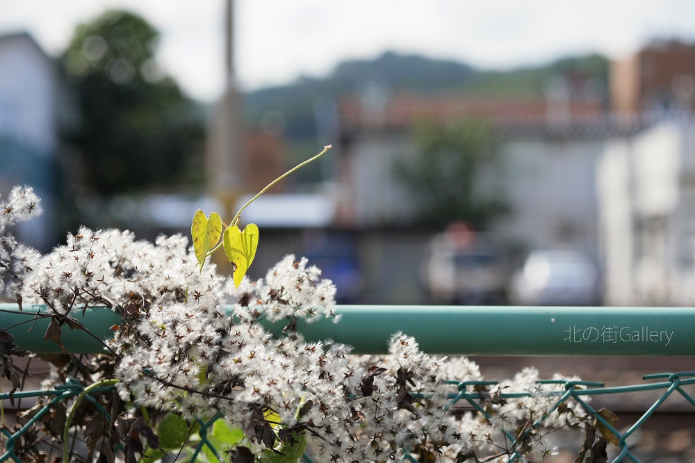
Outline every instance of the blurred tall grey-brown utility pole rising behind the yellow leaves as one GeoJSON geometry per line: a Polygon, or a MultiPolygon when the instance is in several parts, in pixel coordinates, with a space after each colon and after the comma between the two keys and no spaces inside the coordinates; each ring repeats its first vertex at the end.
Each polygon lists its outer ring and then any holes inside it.
{"type": "Polygon", "coordinates": [[[234,70],[234,0],[226,0],[225,29],[225,88],[215,105],[209,127],[206,176],[210,193],[218,197],[227,215],[234,213],[236,197],[243,193],[245,165],[241,165],[240,98],[234,70]]]}

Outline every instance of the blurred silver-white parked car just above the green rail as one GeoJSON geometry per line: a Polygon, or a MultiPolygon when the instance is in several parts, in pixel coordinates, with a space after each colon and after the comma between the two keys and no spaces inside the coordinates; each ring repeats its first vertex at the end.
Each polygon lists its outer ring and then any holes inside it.
{"type": "Polygon", "coordinates": [[[510,298],[521,305],[600,304],[598,272],[579,252],[536,251],[514,274],[510,298]]]}

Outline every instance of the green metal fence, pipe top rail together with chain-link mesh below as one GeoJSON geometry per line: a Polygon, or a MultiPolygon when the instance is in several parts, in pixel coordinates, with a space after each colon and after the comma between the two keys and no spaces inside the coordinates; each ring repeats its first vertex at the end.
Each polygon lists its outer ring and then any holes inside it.
{"type": "MultiPolygon", "coordinates": [[[[318,341],[334,339],[354,346],[355,353],[379,354],[386,352],[386,345],[395,332],[402,331],[415,338],[420,348],[433,354],[448,355],[591,355],[591,356],[693,356],[695,355],[695,309],[692,308],[646,308],[646,307],[443,307],[443,306],[338,306],[337,314],[341,314],[340,323],[332,320],[321,320],[318,323],[306,325],[298,323],[297,330],[306,339],[318,341]]],[[[75,310],[70,314],[82,323],[88,332],[81,330],[70,331],[63,325],[61,334],[67,350],[74,353],[101,352],[103,346],[100,339],[107,339],[113,334],[113,325],[118,325],[120,317],[109,309],[89,309],[84,313],[75,310]]],[[[7,330],[15,339],[17,346],[33,352],[59,352],[54,341],[45,341],[44,333],[49,323],[50,313],[46,307],[24,307],[19,311],[13,304],[0,304],[0,330],[7,330]]],[[[279,334],[281,323],[266,323],[266,327],[279,334]]],[[[557,397],[551,409],[557,408],[566,400],[575,400],[591,416],[603,424],[604,428],[614,434],[618,441],[619,453],[612,462],[630,460],[639,462],[628,444],[632,435],[655,410],[671,395],[680,395],[688,403],[695,406],[695,396],[692,388],[695,385],[695,372],[661,373],[648,375],[645,380],[660,380],[628,386],[604,387],[598,382],[586,381],[541,381],[564,384],[563,391],[547,391],[543,395],[557,397]],[[603,396],[614,393],[630,393],[638,391],[662,391],[655,402],[627,430],[619,431],[612,423],[595,409],[587,405],[587,396],[603,396]],[[676,394],[673,394],[676,393],[676,394]]],[[[475,389],[477,385],[493,386],[495,381],[459,382],[452,378],[452,384],[457,384],[457,393],[450,393],[449,405],[452,407],[460,401],[468,403],[484,416],[488,416],[482,407],[483,398],[475,389]],[[472,387],[472,390],[468,390],[472,387]]],[[[16,432],[3,430],[4,453],[0,461],[13,460],[19,462],[15,454],[15,442],[22,437],[29,426],[33,425],[51,404],[69,400],[73,396],[85,394],[88,388],[83,388],[74,380],[68,380],[65,386],[56,387],[52,391],[19,391],[14,394],[19,397],[51,397],[50,402],[34,419],[26,423],[16,432]]],[[[519,398],[530,396],[528,391],[507,391],[502,398],[519,398]]],[[[9,398],[8,394],[0,394],[0,399],[9,398]]],[[[88,395],[85,398],[90,399],[88,395]]],[[[93,399],[92,399],[93,401],[93,399]]],[[[95,405],[99,405],[95,403],[95,405]]],[[[99,407],[101,409],[101,407],[99,407]]],[[[105,414],[104,409],[101,412],[105,414]]],[[[543,425],[548,414],[543,415],[537,422],[525,431],[532,432],[537,426],[543,425]]],[[[200,442],[196,453],[204,448],[216,455],[212,442],[208,439],[206,430],[213,424],[214,419],[201,423],[200,442]]],[[[517,453],[517,443],[521,437],[505,433],[509,444],[509,462],[518,461],[521,455],[517,453]]],[[[522,436],[523,437],[523,436],[522,436]]],[[[194,458],[195,459],[195,455],[194,458]]],[[[306,459],[306,457],[305,457],[306,459]]],[[[412,455],[407,460],[417,462],[412,455]]],[[[192,461],[192,460],[191,460],[192,461]]],[[[221,460],[220,460],[221,461],[221,460]]],[[[306,461],[311,461],[306,459],[306,461]]]]}

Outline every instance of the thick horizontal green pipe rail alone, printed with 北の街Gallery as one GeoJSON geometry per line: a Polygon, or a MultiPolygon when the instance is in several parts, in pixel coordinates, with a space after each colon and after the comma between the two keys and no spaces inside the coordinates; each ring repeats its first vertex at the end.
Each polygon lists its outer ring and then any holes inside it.
{"type": "MultiPolygon", "coordinates": [[[[44,341],[45,307],[0,304],[0,330],[32,352],[59,352],[44,341]]],[[[357,354],[386,353],[391,335],[414,336],[420,348],[443,355],[561,355],[689,357],[695,355],[692,307],[487,307],[339,305],[342,320],[320,320],[297,330],[309,341],[333,339],[357,354]]],[[[120,317],[108,309],[71,312],[93,334],[63,326],[63,343],[74,353],[101,352],[120,317]]],[[[265,323],[278,334],[281,323],[265,323]]]]}

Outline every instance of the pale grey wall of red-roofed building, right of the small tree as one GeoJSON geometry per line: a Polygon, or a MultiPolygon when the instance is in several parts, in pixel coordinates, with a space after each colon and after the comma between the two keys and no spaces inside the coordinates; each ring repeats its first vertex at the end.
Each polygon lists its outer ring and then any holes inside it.
{"type": "Polygon", "coordinates": [[[496,231],[530,250],[571,248],[598,263],[595,170],[603,140],[508,140],[503,149],[512,213],[496,231]]]}

